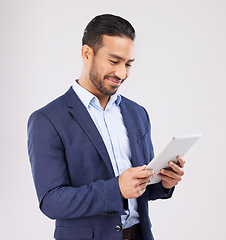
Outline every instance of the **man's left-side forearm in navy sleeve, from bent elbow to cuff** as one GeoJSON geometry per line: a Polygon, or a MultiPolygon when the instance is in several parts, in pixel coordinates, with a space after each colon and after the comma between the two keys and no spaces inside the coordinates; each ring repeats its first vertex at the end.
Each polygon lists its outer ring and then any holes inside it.
{"type": "Polygon", "coordinates": [[[109,212],[125,214],[117,178],[79,188],[56,187],[46,193],[40,208],[52,219],[106,215],[109,212]]]}

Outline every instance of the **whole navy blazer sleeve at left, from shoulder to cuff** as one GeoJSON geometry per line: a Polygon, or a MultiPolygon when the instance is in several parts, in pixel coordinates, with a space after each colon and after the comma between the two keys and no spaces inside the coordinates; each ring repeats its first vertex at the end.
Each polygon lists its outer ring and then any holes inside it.
{"type": "Polygon", "coordinates": [[[40,209],[49,218],[126,214],[117,177],[71,186],[63,142],[40,111],[28,121],[28,153],[40,209]]]}

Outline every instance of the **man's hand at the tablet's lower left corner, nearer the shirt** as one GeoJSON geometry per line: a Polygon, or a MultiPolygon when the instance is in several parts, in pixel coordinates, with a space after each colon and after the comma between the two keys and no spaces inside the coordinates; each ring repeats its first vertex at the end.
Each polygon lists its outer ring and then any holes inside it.
{"type": "Polygon", "coordinates": [[[146,165],[128,168],[118,178],[122,197],[138,198],[146,191],[150,179],[154,176],[154,171],[146,169],[146,165]]]}

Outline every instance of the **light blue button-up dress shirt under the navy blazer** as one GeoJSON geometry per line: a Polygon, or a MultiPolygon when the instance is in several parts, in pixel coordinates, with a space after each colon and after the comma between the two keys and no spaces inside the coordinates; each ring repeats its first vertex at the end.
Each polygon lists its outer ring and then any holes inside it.
{"type": "MultiPolygon", "coordinates": [[[[115,176],[119,176],[123,171],[132,167],[129,138],[119,106],[121,96],[117,93],[112,95],[104,110],[98,98],[80,86],[77,81],[73,84],[73,90],[85,105],[95,123],[107,148],[115,176]]],[[[123,228],[139,223],[137,199],[129,199],[128,205],[127,215],[121,216],[123,228]]]]}

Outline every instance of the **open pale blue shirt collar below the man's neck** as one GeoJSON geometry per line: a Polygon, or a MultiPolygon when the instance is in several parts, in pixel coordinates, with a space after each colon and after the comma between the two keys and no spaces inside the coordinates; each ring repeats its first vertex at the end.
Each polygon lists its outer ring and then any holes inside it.
{"type": "MultiPolygon", "coordinates": [[[[88,90],[83,88],[81,85],[79,85],[78,80],[74,81],[72,88],[86,108],[89,107],[92,101],[94,101],[95,99],[98,100],[98,98],[95,95],[93,95],[91,92],[89,92],[88,90]]],[[[119,105],[120,102],[121,102],[121,96],[116,92],[115,94],[111,95],[107,105],[108,107],[111,107],[113,103],[115,103],[116,105],[119,105]]]]}

